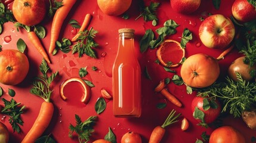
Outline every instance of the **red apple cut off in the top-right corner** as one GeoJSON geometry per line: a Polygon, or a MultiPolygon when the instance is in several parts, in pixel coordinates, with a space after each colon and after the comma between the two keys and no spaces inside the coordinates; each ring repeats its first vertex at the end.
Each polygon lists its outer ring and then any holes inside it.
{"type": "Polygon", "coordinates": [[[247,0],[236,0],[232,5],[232,14],[240,22],[248,22],[256,19],[255,7],[247,0]]]}

